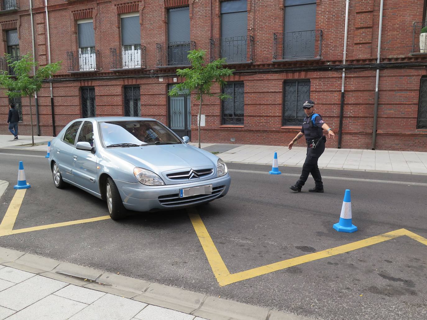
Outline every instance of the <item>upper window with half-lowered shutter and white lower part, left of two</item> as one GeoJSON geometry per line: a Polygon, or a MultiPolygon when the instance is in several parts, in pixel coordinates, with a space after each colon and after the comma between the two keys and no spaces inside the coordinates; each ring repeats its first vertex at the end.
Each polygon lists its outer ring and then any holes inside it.
{"type": "Polygon", "coordinates": [[[80,71],[97,70],[95,32],[92,19],[77,21],[80,71]]]}

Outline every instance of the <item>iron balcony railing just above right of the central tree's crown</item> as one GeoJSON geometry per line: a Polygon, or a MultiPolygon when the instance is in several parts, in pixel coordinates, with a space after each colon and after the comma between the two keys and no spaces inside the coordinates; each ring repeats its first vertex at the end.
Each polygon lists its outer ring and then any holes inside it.
{"type": "Polygon", "coordinates": [[[254,37],[252,35],[217,38],[210,41],[211,61],[225,58],[228,64],[253,62],[254,37]]]}

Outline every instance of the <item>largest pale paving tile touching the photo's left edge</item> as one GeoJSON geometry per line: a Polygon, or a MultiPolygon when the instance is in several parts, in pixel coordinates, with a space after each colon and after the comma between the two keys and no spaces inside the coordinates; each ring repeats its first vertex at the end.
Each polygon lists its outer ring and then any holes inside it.
{"type": "Polygon", "coordinates": [[[67,283],[65,282],[36,275],[24,282],[1,291],[0,305],[15,311],[20,311],[36,301],[53,294],[55,291],[64,288],[66,285],[67,283]],[[32,294],[28,294],[29,292],[32,294]]]}

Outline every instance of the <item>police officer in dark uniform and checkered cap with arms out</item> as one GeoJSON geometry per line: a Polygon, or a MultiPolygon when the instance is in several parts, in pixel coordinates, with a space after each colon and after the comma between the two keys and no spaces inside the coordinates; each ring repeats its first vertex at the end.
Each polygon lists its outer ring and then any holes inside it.
{"type": "Polygon", "coordinates": [[[302,136],[305,136],[307,142],[307,157],[305,158],[304,165],[302,166],[302,173],[299,180],[289,188],[293,191],[301,192],[301,187],[304,186],[307,181],[308,175],[314,178],[316,184],[314,189],[309,189],[309,192],[323,192],[322,176],[320,175],[319,167],[317,166],[317,160],[325,151],[326,137],[323,135],[323,130],[328,131],[328,137],[335,136],[332,129],[322,120],[322,117],[314,113],[314,102],[307,100],[302,105],[306,117],[302,123],[301,132],[292,139],[289,143],[289,149],[292,149],[292,145],[302,136]]]}

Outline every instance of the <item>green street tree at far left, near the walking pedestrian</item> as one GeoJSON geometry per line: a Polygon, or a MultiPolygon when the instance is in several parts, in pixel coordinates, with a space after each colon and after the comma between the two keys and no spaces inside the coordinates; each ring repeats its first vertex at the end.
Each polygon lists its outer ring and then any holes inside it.
{"type": "Polygon", "coordinates": [[[6,61],[9,70],[13,70],[13,75],[3,70],[0,73],[0,86],[6,90],[9,98],[27,96],[29,98],[29,113],[31,119],[31,139],[34,145],[34,128],[32,125],[32,96],[41,89],[42,81],[47,79],[61,68],[61,61],[38,67],[30,53],[23,55],[20,60],[15,60],[11,55],[6,54],[6,61]],[[38,67],[35,74],[32,74],[33,67],[38,67]]]}

